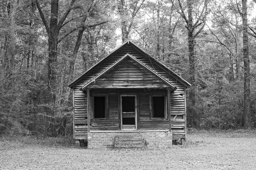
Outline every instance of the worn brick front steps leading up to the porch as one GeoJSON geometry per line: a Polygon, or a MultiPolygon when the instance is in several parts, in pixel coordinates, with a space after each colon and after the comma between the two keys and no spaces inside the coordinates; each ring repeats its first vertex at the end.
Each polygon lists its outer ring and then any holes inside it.
{"type": "Polygon", "coordinates": [[[142,136],[141,134],[116,135],[114,148],[142,148],[142,136]]]}

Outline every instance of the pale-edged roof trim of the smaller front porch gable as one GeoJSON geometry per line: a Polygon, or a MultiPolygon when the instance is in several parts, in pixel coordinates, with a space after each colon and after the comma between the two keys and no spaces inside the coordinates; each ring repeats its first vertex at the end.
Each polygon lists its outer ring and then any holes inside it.
{"type": "Polygon", "coordinates": [[[165,84],[167,84],[170,88],[172,88],[173,90],[176,90],[177,87],[174,86],[172,83],[170,83],[169,81],[167,81],[165,78],[163,78],[162,76],[160,76],[159,74],[157,74],[155,71],[151,70],[150,68],[148,68],[145,64],[143,64],[142,62],[140,62],[140,60],[136,59],[134,56],[130,55],[130,54],[126,54],[124,55],[122,58],[120,58],[118,61],[116,61],[114,64],[112,64],[110,67],[108,67],[107,69],[105,69],[103,72],[101,72],[101,74],[99,74],[98,76],[96,76],[95,78],[93,78],[92,80],[90,80],[88,83],[84,84],[79,90],[86,90],[86,88],[88,86],[90,86],[92,83],[94,83],[97,79],[99,79],[101,76],[103,76],[104,74],[106,74],[108,71],[110,71],[112,68],[114,68],[116,65],[118,65],[119,63],[121,63],[124,59],[126,58],[130,58],[131,60],[133,60],[135,63],[137,63],[138,65],[140,65],[141,67],[143,67],[145,70],[147,70],[148,72],[150,72],[151,74],[153,74],[154,76],[156,76],[158,79],[162,80],[165,84]]]}

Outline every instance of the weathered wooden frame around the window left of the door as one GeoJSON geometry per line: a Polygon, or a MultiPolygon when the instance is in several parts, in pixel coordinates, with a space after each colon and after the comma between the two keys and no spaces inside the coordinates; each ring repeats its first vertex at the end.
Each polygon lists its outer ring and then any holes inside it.
{"type": "Polygon", "coordinates": [[[108,93],[90,95],[90,119],[108,119],[109,118],[109,95],[108,93]],[[94,118],[94,97],[105,97],[105,118],[94,118]]]}

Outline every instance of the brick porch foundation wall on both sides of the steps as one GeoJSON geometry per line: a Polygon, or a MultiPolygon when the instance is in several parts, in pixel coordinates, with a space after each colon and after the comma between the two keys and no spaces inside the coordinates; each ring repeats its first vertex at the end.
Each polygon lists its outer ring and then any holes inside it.
{"type": "Polygon", "coordinates": [[[141,133],[142,141],[148,145],[172,145],[172,132],[168,130],[140,130],[140,131],[91,131],[88,133],[88,149],[99,147],[113,147],[116,134],[141,133]]]}

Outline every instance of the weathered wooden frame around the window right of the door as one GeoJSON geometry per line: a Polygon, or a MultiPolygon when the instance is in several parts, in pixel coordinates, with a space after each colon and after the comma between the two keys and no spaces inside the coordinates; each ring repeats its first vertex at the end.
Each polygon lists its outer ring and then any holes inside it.
{"type": "Polygon", "coordinates": [[[160,120],[168,120],[168,98],[167,94],[150,94],[149,95],[149,115],[150,119],[160,119],[160,120]],[[164,97],[164,117],[153,117],[154,110],[153,110],[153,97],[164,97]]]}

